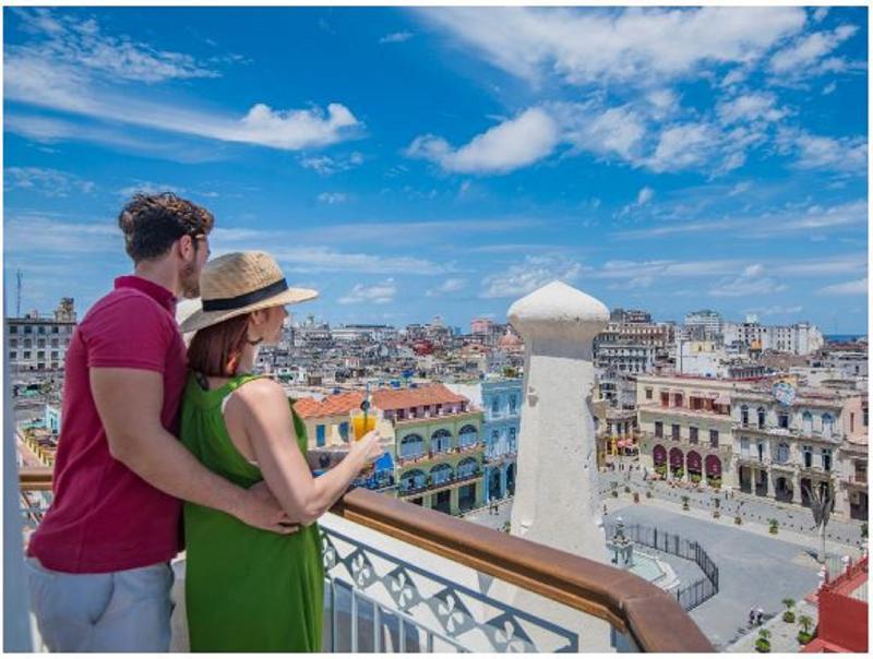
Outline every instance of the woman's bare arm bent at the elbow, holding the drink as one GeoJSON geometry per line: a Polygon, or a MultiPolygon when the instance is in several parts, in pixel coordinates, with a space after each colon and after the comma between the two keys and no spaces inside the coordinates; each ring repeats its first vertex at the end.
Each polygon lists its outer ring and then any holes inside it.
{"type": "Polygon", "coordinates": [[[333,469],[313,478],[297,446],[291,408],[282,387],[260,379],[241,386],[228,403],[239,405],[242,428],[264,480],[288,516],[312,524],[326,513],[368,463],[382,455],[375,432],[350,445],[348,455],[333,469]]]}

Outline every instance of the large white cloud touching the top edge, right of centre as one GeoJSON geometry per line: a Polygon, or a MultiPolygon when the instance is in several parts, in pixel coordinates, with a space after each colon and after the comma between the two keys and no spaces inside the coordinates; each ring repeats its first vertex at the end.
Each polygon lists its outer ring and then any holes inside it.
{"type": "Polygon", "coordinates": [[[649,86],[697,76],[706,63],[746,64],[805,22],[801,8],[540,8],[419,10],[492,64],[539,83],[649,86]]]}

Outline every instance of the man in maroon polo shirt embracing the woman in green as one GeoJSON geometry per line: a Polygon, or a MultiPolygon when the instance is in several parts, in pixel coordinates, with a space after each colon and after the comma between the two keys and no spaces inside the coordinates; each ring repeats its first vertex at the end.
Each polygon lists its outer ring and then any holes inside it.
{"type": "Polygon", "coordinates": [[[55,498],[27,549],[51,651],[169,649],[180,500],[295,530],[263,483],[243,490],[212,474],[174,436],[186,382],[176,298],[200,295],[213,223],[174,194],[135,195],[119,216],[134,275],[117,278],[73,334],[55,498]]]}

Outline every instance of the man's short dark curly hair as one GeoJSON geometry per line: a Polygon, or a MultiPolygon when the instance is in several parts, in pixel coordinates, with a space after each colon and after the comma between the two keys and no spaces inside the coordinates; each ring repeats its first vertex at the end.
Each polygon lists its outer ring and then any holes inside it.
{"type": "Polygon", "coordinates": [[[118,216],[134,263],[163,256],[182,236],[208,233],[214,223],[212,213],[172,192],[134,194],[118,216]]]}

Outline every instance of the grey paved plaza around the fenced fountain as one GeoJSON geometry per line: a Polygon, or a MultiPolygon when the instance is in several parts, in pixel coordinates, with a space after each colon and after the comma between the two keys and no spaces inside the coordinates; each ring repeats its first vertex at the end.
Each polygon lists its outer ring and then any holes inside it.
{"type": "MultiPolygon", "coordinates": [[[[610,480],[618,480],[619,474],[622,472],[603,474],[600,479],[602,503],[609,517],[614,519],[621,516],[625,524],[657,527],[696,540],[718,565],[719,592],[690,613],[714,646],[722,651],[748,651],[757,636],[757,628],[748,627],[749,609],[760,607],[765,612],[766,626],[774,633],[774,651],[797,651],[798,645],[793,640],[796,625],[781,623],[781,600],[790,597],[800,602],[818,585],[820,566],[814,560],[818,541],[806,523],[806,518],[811,518],[810,512],[805,508],[787,508],[776,511],[784,515],[778,517],[774,514],[775,504],[750,503],[738,496],[722,501],[722,516],[714,519],[710,493],[690,493],[656,483],[656,499],[645,499],[642,493],[644,490],[639,487],[642,482],[634,486],[632,481],[632,490],[641,491],[641,501],[634,504],[631,494],[624,493],[623,482],[618,499],[609,494],[610,480]],[[681,510],[682,494],[689,494],[692,499],[690,511],[681,510]],[[737,510],[744,519],[742,526],[733,524],[737,510]],[[776,536],[770,535],[767,528],[770,517],[780,519],[776,536]]],[[[506,501],[499,505],[495,515],[486,507],[468,513],[465,518],[500,529],[509,522],[511,513],[512,501],[506,501]]],[[[827,543],[828,562],[835,568],[841,555],[860,554],[858,542],[852,541],[856,538],[851,534],[853,529],[860,540],[857,525],[842,524],[834,536],[849,542],[829,540],[827,543]]],[[[699,571],[693,564],[649,548],[643,550],[669,562],[680,577],[684,577],[683,584],[698,578],[699,571]]]]}

